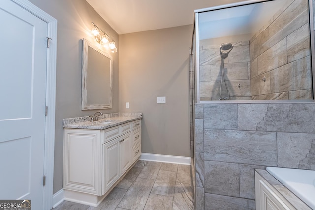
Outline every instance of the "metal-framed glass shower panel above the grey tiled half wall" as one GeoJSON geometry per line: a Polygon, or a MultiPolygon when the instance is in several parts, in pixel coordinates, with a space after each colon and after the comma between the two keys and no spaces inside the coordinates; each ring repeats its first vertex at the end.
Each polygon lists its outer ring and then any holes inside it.
{"type": "Polygon", "coordinates": [[[313,101],[308,0],[249,0],[196,10],[197,101],[313,101]]]}

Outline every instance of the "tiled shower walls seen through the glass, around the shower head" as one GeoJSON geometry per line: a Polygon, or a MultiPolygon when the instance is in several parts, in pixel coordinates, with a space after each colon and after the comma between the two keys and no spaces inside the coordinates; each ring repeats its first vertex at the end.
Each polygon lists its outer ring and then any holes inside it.
{"type": "MultiPolygon", "coordinates": [[[[308,1],[285,3],[250,41],[232,43],[224,66],[230,100],[312,99],[308,1]]],[[[221,41],[200,41],[201,101],[228,95],[221,87],[221,41]]]]}

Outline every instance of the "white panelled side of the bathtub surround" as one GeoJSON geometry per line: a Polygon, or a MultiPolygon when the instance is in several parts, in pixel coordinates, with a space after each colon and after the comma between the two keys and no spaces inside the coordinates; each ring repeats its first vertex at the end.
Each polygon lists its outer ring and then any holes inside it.
{"type": "Polygon", "coordinates": [[[255,172],[256,210],[296,210],[262,176],[255,172]]]}

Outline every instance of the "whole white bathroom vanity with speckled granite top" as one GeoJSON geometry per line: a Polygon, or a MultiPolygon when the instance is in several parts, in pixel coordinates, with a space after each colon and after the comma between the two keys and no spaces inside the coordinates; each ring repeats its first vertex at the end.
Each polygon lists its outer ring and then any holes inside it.
{"type": "Polygon", "coordinates": [[[141,155],[142,113],[63,120],[64,199],[97,206],[141,155]]]}

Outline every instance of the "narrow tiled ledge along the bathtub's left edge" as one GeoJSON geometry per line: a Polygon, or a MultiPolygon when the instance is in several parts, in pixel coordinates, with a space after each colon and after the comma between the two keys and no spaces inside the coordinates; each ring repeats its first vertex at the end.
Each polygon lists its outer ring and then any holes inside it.
{"type": "Polygon", "coordinates": [[[286,188],[280,181],[274,178],[267,170],[255,169],[271,186],[273,186],[294,208],[297,210],[312,210],[294,193],[286,188]]]}

